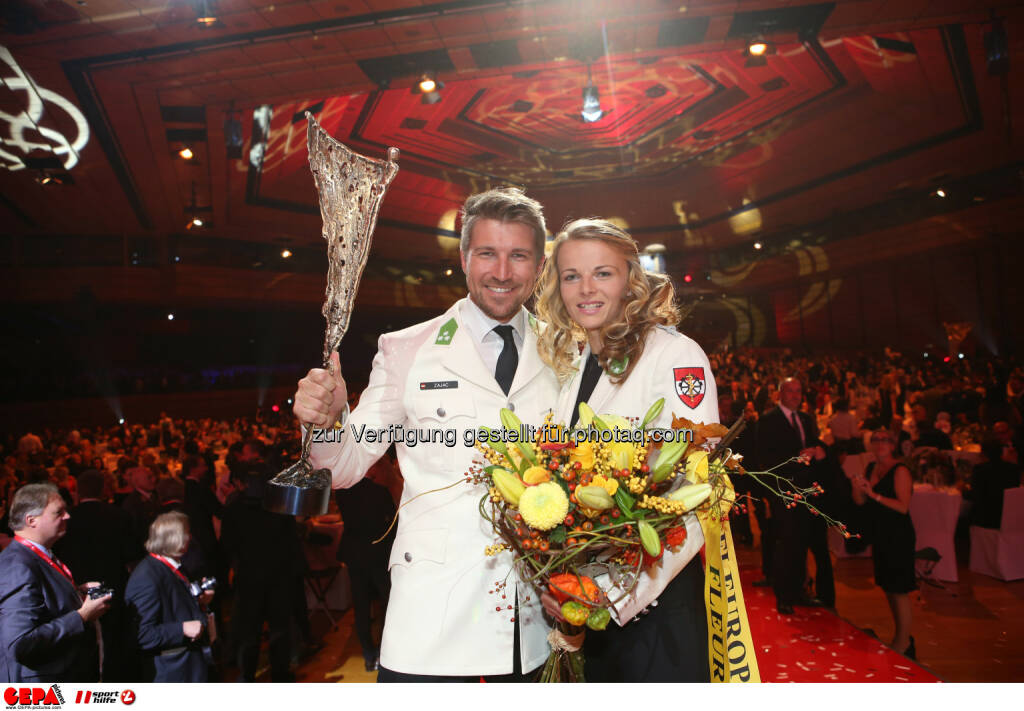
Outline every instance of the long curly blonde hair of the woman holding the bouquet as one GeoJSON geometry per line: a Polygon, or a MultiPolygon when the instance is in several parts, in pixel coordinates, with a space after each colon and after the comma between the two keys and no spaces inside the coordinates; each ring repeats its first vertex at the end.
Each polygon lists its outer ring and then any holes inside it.
{"type": "Polygon", "coordinates": [[[611,375],[612,382],[621,383],[640,360],[647,333],[657,325],[675,326],[679,323],[680,312],[675,304],[676,292],[672,280],[665,275],[645,271],[640,265],[637,243],[611,222],[590,217],[573,220],[562,227],[535,289],[538,318],[547,322],[547,328],[538,340],[538,350],[561,381],[571,377],[572,362],[580,353],[580,345],[587,339],[583,328],[569,318],[560,291],[558,252],[569,240],[603,242],[622,254],[629,266],[629,292],[624,296],[623,313],[601,329],[603,347],[598,354],[598,362],[605,371],[609,363],[626,363],[621,373],[611,375]]]}

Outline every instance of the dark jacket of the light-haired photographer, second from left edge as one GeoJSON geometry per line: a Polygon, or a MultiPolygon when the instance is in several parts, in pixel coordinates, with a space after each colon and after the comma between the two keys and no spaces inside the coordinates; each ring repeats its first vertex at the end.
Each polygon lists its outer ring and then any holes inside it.
{"type": "Polygon", "coordinates": [[[189,641],[182,628],[189,620],[206,624],[187,583],[146,555],[128,579],[125,602],[142,653],[143,681],[207,680],[203,646],[189,641]]]}

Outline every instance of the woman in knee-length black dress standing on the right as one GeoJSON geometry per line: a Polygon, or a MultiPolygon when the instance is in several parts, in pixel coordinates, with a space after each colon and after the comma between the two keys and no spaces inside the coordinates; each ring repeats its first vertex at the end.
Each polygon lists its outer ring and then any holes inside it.
{"type": "Polygon", "coordinates": [[[867,506],[867,531],[874,560],[874,582],[881,587],[892,609],[896,632],[890,646],[911,659],[915,650],[910,636],[909,592],[914,580],[913,524],[910,522],[910,470],[893,453],[896,438],[888,429],[871,434],[876,461],[863,476],[853,478],[853,500],[867,506]]]}

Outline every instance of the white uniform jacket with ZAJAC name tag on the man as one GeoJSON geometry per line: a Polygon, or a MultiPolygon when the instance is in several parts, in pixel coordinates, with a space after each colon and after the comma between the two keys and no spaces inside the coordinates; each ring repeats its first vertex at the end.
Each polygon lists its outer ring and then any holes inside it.
{"type": "Polygon", "coordinates": [[[496,539],[479,513],[486,494],[482,486],[461,483],[419,496],[459,482],[474,455],[482,462],[466,437],[480,426],[500,428],[501,408],[510,407],[523,423],[539,426],[558,396],[557,378],[538,354],[532,317],[525,320],[515,380],[505,395],[463,328],[461,304],[382,335],[370,382],[341,442],[311,448],[313,465],[331,469],[335,489],[343,489],[362,478],[392,437],[396,442],[406,484],[389,561],[391,598],[381,665],[409,674],[512,673],[513,624],[520,626],[523,671],[544,663],[549,652],[549,628],[538,594],[527,585],[519,585],[519,615],[511,622],[512,554],[484,554],[496,539]],[[371,430],[378,430],[375,442],[371,430]],[[454,446],[420,442],[430,430],[452,432],[454,446]],[[415,444],[407,438],[413,435],[415,444]],[[506,581],[505,589],[496,587],[506,581]]]}

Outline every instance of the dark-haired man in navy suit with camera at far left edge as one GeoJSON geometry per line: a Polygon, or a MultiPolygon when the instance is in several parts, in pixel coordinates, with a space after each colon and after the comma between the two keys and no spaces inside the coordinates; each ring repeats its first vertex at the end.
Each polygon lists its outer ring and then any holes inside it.
{"type": "Polygon", "coordinates": [[[83,601],[71,571],[53,555],[70,515],[57,488],[32,484],[14,494],[14,541],[0,553],[0,677],[7,681],[95,681],[91,623],[110,595],[83,601]]]}

